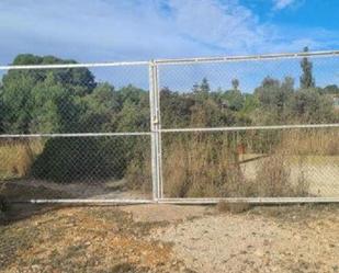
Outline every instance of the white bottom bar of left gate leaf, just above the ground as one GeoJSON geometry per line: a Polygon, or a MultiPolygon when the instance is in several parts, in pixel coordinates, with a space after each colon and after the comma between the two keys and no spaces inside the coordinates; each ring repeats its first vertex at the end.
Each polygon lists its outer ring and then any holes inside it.
{"type": "MultiPolygon", "coordinates": [[[[15,203],[15,202],[13,202],[15,203]]],[[[21,203],[32,204],[151,204],[152,200],[29,200],[21,203]]]]}

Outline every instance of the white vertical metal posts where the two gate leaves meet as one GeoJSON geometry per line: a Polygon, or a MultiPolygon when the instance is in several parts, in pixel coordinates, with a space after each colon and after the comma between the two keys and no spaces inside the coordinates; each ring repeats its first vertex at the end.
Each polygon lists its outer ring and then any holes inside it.
{"type": "Polygon", "coordinates": [[[151,179],[152,200],[158,202],[162,198],[161,185],[161,136],[160,136],[160,107],[158,88],[158,66],[155,61],[149,62],[149,107],[151,132],[151,179]]]}

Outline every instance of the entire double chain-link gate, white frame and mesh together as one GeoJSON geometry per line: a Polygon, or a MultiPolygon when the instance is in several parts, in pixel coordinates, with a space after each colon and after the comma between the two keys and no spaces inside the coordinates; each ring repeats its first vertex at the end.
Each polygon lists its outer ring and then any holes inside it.
{"type": "Polygon", "coordinates": [[[45,61],[0,67],[11,201],[339,200],[337,52],[45,61]]]}

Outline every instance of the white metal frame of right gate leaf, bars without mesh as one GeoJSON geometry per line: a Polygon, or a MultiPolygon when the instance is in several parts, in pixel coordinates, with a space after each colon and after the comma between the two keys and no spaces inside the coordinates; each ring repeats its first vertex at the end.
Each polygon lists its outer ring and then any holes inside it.
{"type": "Polygon", "coordinates": [[[160,90],[159,90],[159,67],[161,65],[194,65],[194,64],[215,64],[215,62],[239,62],[239,61],[258,61],[258,60],[275,60],[275,59],[301,59],[305,57],[338,57],[339,50],[323,50],[323,52],[302,52],[287,54],[265,54],[265,55],[249,55],[249,56],[225,56],[225,57],[200,57],[200,58],[176,58],[176,59],[157,59],[151,61],[151,66],[156,66],[152,73],[152,92],[156,92],[157,105],[157,126],[154,128],[157,134],[157,149],[160,150],[155,155],[159,157],[155,159],[157,162],[157,191],[158,200],[156,203],[163,204],[185,204],[185,205],[207,205],[217,204],[219,202],[228,203],[250,203],[250,204],[295,204],[295,203],[339,203],[338,197],[163,197],[163,180],[162,180],[162,150],[161,135],[162,133],[180,133],[180,132],[237,132],[237,130],[253,130],[253,129],[289,129],[289,128],[329,128],[337,127],[339,124],[296,124],[296,125],[271,125],[271,126],[231,126],[231,127],[195,127],[195,128],[161,128],[160,121],[160,90]]]}

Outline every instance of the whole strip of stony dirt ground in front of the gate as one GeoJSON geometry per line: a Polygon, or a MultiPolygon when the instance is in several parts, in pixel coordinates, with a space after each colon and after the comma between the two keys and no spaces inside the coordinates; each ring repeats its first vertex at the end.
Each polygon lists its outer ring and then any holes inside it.
{"type": "Polygon", "coordinates": [[[14,206],[0,272],[339,272],[339,206],[14,206]]]}

